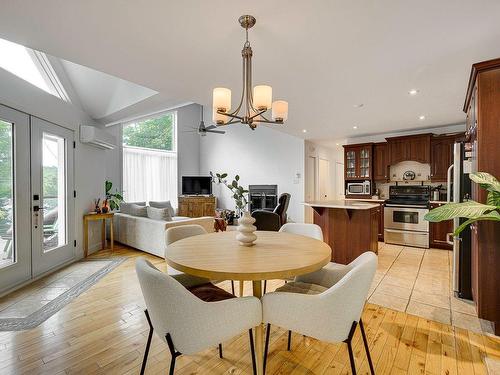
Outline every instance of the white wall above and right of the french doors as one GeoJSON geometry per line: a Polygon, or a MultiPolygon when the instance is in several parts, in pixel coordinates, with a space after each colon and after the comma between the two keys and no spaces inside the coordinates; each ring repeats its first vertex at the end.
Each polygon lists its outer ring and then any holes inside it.
{"type": "MultiPolygon", "coordinates": [[[[28,82],[0,69],[0,103],[75,132],[75,200],[77,256],[83,256],[83,214],[92,208],[92,200],[104,194],[106,151],[78,141],[79,126],[95,125],[79,108],[56,98],[28,82]]],[[[29,150],[27,150],[28,152],[29,150]]],[[[95,223],[93,223],[95,224],[95,223]]],[[[100,245],[100,228],[90,227],[89,248],[100,245]]]]}

